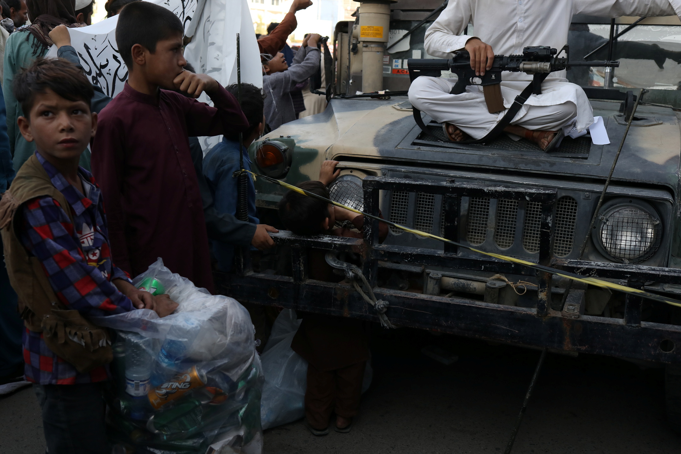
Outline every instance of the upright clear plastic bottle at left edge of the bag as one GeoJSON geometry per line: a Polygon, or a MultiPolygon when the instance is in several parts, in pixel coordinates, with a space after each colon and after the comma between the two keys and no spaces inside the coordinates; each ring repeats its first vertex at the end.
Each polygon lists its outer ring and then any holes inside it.
{"type": "Polygon", "coordinates": [[[147,393],[151,377],[153,339],[129,333],[125,339],[125,392],[130,399],[130,417],[145,419],[148,413],[147,393]],[[147,350],[148,349],[148,350],[147,350]]]}

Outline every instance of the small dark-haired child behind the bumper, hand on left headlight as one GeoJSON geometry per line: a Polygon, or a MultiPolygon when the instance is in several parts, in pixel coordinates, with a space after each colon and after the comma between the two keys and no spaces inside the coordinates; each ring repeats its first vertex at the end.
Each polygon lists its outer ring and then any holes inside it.
{"type": "MultiPolygon", "coordinates": [[[[325,161],[319,181],[304,181],[298,187],[329,198],[326,186],[334,181],[340,170],[337,161],[325,161]]],[[[284,226],[300,235],[334,234],[339,237],[362,238],[364,215],[335,207],[330,203],[289,191],[279,202],[279,217],[284,226]],[[334,228],[336,221],[350,221],[355,229],[334,228]]],[[[379,222],[379,240],[387,237],[387,224],[379,222]]],[[[327,282],[338,282],[331,267],[324,260],[326,251],[309,252],[310,277],[327,282]]],[[[308,361],[305,391],[306,426],[314,435],[329,433],[331,413],[336,414],[334,430],[350,432],[352,419],[360,408],[364,368],[369,359],[366,322],[355,318],[334,317],[298,312],[300,328],[291,348],[308,361]]]]}

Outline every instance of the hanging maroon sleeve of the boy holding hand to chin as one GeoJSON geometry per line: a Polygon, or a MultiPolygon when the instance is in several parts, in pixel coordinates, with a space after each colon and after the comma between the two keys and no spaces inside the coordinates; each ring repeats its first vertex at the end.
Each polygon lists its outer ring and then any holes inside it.
{"type": "Polygon", "coordinates": [[[116,121],[100,121],[92,142],[92,172],[101,188],[109,224],[109,240],[114,263],[127,273],[132,273],[125,241],[125,211],[123,210],[123,127],[116,121]]]}

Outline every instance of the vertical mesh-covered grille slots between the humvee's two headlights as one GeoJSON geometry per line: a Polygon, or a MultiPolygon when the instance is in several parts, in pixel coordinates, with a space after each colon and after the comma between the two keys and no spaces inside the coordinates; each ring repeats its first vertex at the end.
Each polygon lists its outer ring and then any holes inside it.
{"type": "MultiPolygon", "coordinates": [[[[415,206],[409,211],[409,196],[405,191],[393,191],[390,203],[390,220],[401,225],[412,224],[417,230],[443,234],[444,215],[441,215],[439,232],[433,231],[435,209],[441,205],[432,194],[415,194],[415,206]],[[410,222],[413,220],[413,223],[410,222]]],[[[466,198],[464,198],[466,199],[466,198]]],[[[413,202],[412,202],[413,203],[413,202]]],[[[444,213],[443,213],[444,214],[444,213]]],[[[577,201],[569,196],[561,197],[556,202],[554,216],[554,249],[558,257],[565,257],[572,251],[575,223],[577,221],[577,201]]],[[[517,200],[490,199],[472,197],[468,199],[468,220],[466,222],[466,241],[471,245],[481,245],[488,239],[489,230],[493,230],[492,239],[498,249],[508,249],[516,243],[516,231],[522,229],[522,246],[530,254],[539,252],[539,230],[541,211],[539,202],[518,202],[517,200]],[[493,203],[496,202],[496,203],[493,203]],[[496,205],[496,209],[494,206],[496,205]],[[492,211],[494,209],[494,211],[492,211]],[[520,215],[524,209],[524,215],[520,215]],[[488,228],[490,211],[494,228],[488,228]]],[[[391,228],[394,234],[402,230],[391,228]]]]}

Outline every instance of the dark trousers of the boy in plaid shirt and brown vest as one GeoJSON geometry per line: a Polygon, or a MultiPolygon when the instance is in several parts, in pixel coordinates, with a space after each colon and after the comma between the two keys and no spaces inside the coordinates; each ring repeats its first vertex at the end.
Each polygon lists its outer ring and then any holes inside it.
{"type": "Polygon", "coordinates": [[[111,452],[104,424],[105,384],[33,384],[49,454],[111,452]]]}

